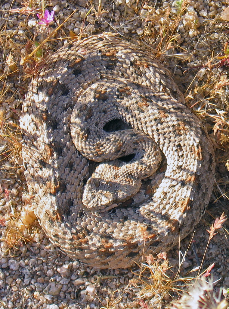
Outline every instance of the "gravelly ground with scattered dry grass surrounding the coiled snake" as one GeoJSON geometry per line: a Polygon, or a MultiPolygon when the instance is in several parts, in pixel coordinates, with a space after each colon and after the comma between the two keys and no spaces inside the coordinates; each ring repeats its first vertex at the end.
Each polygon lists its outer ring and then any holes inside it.
{"type": "MultiPolygon", "coordinates": [[[[187,276],[198,265],[198,260],[202,260],[209,236],[206,229],[223,211],[228,213],[229,200],[224,193],[229,191],[228,148],[225,146],[229,141],[228,125],[225,125],[229,116],[229,64],[227,60],[219,63],[219,59],[213,58],[219,53],[225,55],[223,48],[229,39],[229,4],[201,0],[91,0],[88,3],[79,0],[76,4],[75,1],[54,0],[46,1],[45,5],[49,11],[55,11],[55,20],[49,26],[41,26],[34,14],[41,13],[41,3],[30,1],[29,6],[24,3],[2,1],[0,11],[0,308],[166,306],[171,301],[168,295],[163,300],[159,297],[151,300],[151,294],[143,294],[143,286],[149,284],[149,274],[142,277],[145,283],[139,281],[138,266],[126,270],[94,269],[71,260],[50,244],[29,211],[31,197],[23,176],[18,119],[30,77],[38,70],[40,58],[67,44],[69,36],[117,32],[145,46],[164,61],[185,93],[187,104],[202,118],[218,145],[217,185],[208,213],[195,230],[193,245],[189,247],[191,236],[180,244],[183,254],[187,250],[180,276],[187,276]],[[32,52],[34,45],[46,39],[71,14],[42,49],[22,66],[22,60],[32,52]],[[29,229],[20,225],[20,218],[31,223],[29,229]],[[12,248],[9,249],[9,245],[12,248]],[[143,303],[139,302],[140,295],[144,295],[143,303]]],[[[226,222],[224,227],[227,225],[226,222]]],[[[229,288],[227,238],[225,230],[214,236],[203,264],[204,269],[215,263],[211,271],[214,280],[219,280],[215,291],[223,287],[224,295],[229,288]]],[[[168,259],[176,272],[179,246],[168,253],[168,259]]],[[[195,275],[196,272],[192,273],[193,277],[195,275]]]]}

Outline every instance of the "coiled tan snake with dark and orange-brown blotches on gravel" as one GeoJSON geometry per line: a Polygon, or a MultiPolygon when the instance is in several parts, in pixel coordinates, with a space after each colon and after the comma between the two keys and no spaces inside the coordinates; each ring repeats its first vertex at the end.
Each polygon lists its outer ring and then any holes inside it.
{"type": "Polygon", "coordinates": [[[170,249],[209,203],[210,137],[168,70],[112,33],[47,58],[20,125],[38,222],[87,265],[126,268],[170,249]]]}

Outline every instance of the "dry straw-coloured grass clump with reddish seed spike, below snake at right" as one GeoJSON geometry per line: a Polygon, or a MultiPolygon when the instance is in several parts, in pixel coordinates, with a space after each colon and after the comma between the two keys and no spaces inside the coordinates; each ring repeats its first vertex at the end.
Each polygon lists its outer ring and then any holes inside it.
{"type": "MultiPolygon", "coordinates": [[[[224,213],[217,217],[207,232],[209,239],[205,248],[201,265],[190,270],[187,277],[180,277],[180,268],[185,261],[188,249],[183,255],[183,259],[179,263],[179,269],[175,273],[173,267],[169,265],[167,253],[161,252],[155,255],[146,256],[146,263],[139,266],[139,272],[133,272],[135,275],[129,281],[126,289],[142,287],[140,292],[136,294],[135,301],[132,304],[126,304],[123,308],[135,309],[226,309],[227,301],[222,300],[221,294],[215,293],[211,270],[215,263],[211,264],[207,269],[201,272],[205,254],[209,247],[211,239],[218,233],[217,230],[223,228],[223,223],[227,220],[224,213]],[[192,273],[198,272],[195,277],[190,276],[192,273]],[[210,279],[207,277],[210,276],[210,279]],[[177,300],[178,298],[178,300],[177,300]],[[171,302],[172,306],[171,307],[171,302]]],[[[100,309],[115,309],[118,302],[122,301],[123,291],[119,291],[119,296],[110,297],[107,300],[106,307],[100,309]]]]}

